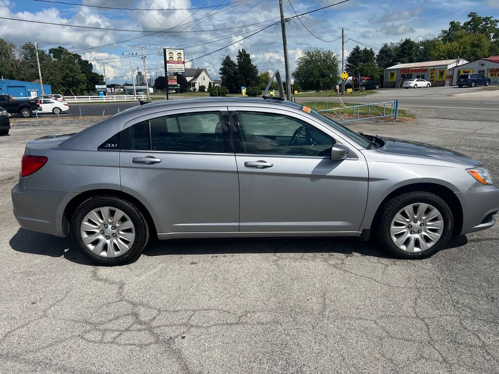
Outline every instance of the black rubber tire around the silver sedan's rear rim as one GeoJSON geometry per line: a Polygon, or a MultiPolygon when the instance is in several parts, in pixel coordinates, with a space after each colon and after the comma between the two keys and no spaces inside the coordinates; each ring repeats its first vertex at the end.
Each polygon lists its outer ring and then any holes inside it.
{"type": "Polygon", "coordinates": [[[132,203],[115,196],[96,196],[83,201],[71,218],[71,238],[78,250],[90,261],[106,266],[124,265],[135,261],[149,240],[149,227],[142,212],[132,203]],[[81,239],[80,225],[85,215],[99,206],[111,206],[120,209],[130,217],[134,224],[135,240],[131,248],[118,257],[106,258],[93,253],[81,239]]]}

